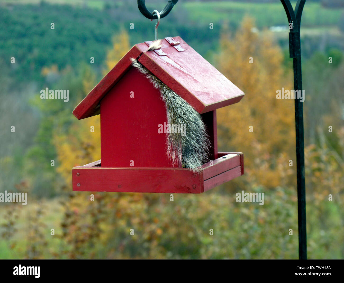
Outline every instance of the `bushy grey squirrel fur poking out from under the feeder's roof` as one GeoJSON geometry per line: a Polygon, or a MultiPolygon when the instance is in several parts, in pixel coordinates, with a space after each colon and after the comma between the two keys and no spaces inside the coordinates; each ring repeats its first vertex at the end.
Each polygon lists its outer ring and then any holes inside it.
{"type": "MultiPolygon", "coordinates": [[[[149,47],[149,51],[160,48],[159,41],[152,45],[149,47]]],[[[170,125],[186,125],[184,136],[181,133],[169,133],[166,140],[169,158],[173,163],[181,162],[183,166],[193,172],[201,171],[202,164],[208,162],[208,151],[211,146],[201,115],[135,58],[131,58],[131,61],[132,65],[153,83],[155,89],[159,90],[166,105],[168,123],[170,125]]]]}

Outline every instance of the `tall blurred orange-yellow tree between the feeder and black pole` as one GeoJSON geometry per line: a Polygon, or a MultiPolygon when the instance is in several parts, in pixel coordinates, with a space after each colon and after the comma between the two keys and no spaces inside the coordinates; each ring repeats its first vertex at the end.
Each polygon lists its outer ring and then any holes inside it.
{"type": "Polygon", "coordinates": [[[283,72],[282,51],[271,38],[255,32],[252,19],[245,18],[232,38],[222,34],[217,59],[218,69],[245,93],[238,104],[217,111],[219,149],[244,152],[247,175],[235,182],[255,176],[268,188],[279,186],[278,158],[284,156],[286,170],[289,160],[296,166],[294,101],[276,99],[277,90],[292,89],[291,76],[283,72]],[[267,157],[265,163],[257,162],[259,155],[267,157]]]}

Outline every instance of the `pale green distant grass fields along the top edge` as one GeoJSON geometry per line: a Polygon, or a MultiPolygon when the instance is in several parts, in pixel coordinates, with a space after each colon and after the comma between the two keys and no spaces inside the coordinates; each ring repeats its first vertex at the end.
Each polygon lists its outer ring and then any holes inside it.
{"type": "MultiPolygon", "coordinates": [[[[22,3],[38,4],[41,0],[2,0],[1,3],[22,3]]],[[[72,4],[77,6],[87,6],[89,8],[104,9],[105,4],[116,5],[121,9],[135,7],[136,0],[129,1],[102,1],[102,0],[45,0],[45,2],[54,4],[72,4]],[[129,4],[129,5],[127,5],[129,4]]],[[[292,1],[295,6],[295,1],[292,1]]],[[[163,7],[160,4],[159,7],[163,7]]],[[[147,2],[149,10],[156,9],[156,3],[147,2]],[[154,8],[155,7],[155,8],[154,8]]],[[[190,21],[196,24],[209,24],[218,21],[241,22],[245,15],[255,17],[257,27],[266,27],[273,25],[287,25],[287,17],[283,6],[279,0],[276,3],[241,3],[236,1],[207,1],[207,2],[183,2],[181,0],[173,8],[173,12],[181,13],[186,11],[190,21]]],[[[303,9],[302,26],[333,26],[344,13],[342,9],[326,9],[321,4],[307,1],[303,9]]]]}

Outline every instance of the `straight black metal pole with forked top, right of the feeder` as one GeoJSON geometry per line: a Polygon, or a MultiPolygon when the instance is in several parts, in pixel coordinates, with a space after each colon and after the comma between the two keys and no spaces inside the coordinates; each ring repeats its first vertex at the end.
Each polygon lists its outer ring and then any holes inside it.
{"type": "MultiPolygon", "coordinates": [[[[298,0],[295,11],[289,0],[281,0],[286,10],[290,33],[289,52],[293,58],[294,90],[302,93],[301,69],[301,15],[306,0],[298,0]]],[[[303,102],[300,98],[294,99],[295,104],[295,136],[296,136],[296,164],[298,189],[298,226],[299,226],[299,259],[307,259],[307,231],[306,231],[306,185],[304,173],[304,136],[303,136],[303,102]]]]}

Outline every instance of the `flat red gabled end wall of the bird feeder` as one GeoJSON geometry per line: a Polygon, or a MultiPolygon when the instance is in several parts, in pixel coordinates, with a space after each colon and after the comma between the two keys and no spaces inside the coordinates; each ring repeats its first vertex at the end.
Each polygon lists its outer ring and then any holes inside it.
{"type": "Polygon", "coordinates": [[[100,102],[101,166],[179,167],[166,153],[166,107],[160,92],[132,67],[100,102]],[[130,94],[133,92],[133,98],[130,94]]]}

